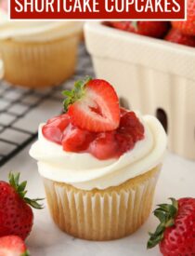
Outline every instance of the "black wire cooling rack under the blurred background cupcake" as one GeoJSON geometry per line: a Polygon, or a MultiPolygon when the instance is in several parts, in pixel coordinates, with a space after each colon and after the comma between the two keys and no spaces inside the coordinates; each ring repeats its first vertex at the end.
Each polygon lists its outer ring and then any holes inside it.
{"type": "Polygon", "coordinates": [[[56,88],[17,88],[0,81],[0,167],[36,138],[38,123],[41,121],[37,114],[45,117],[45,111],[49,113],[52,106],[56,106],[56,109],[58,106],[59,114],[62,105],[61,91],[71,88],[74,81],[84,75],[94,76],[94,71],[84,44],[81,44],[75,74],[56,88]]]}

